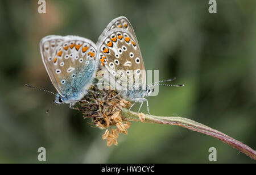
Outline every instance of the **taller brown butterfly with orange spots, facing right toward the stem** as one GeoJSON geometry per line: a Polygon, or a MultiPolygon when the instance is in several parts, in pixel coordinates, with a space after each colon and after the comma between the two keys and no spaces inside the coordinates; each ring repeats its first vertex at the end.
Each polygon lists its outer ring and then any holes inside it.
{"type": "MultiPolygon", "coordinates": [[[[155,82],[146,85],[146,71],[142,59],[141,49],[134,33],[133,27],[125,16],[113,19],[100,35],[97,43],[97,59],[100,60],[100,69],[104,71],[102,78],[110,79],[110,85],[114,86],[121,97],[141,103],[148,100],[145,97],[154,92],[155,82]]],[[[160,82],[172,81],[164,80],[160,82]]],[[[180,86],[180,85],[172,85],[180,86]]],[[[131,109],[130,107],[130,109],[131,109]]]]}

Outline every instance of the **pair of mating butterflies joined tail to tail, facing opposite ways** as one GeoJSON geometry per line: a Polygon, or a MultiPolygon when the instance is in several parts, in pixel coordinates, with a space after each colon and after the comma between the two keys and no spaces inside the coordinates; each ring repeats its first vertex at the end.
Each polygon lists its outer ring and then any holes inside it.
{"type": "Polygon", "coordinates": [[[40,51],[47,73],[58,91],[55,103],[73,106],[80,101],[92,85],[99,66],[105,72],[103,78],[113,78],[119,94],[134,104],[141,102],[142,106],[144,101],[147,102],[144,97],[154,91],[151,86],[155,84],[142,87],[146,85],[144,62],[133,27],[124,16],[108,24],[97,44],[79,36],[50,35],[41,40],[40,51]],[[139,88],[133,88],[135,78],[128,78],[130,89],[120,83],[122,77],[129,76],[138,78],[139,88]]]}

